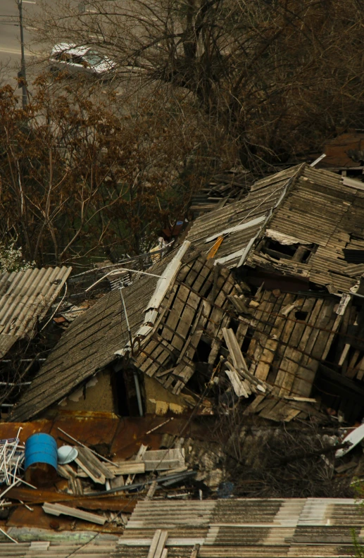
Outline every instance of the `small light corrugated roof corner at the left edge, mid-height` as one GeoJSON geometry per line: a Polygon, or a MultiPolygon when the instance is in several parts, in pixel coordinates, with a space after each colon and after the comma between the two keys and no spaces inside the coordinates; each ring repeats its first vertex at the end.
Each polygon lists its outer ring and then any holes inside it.
{"type": "Polygon", "coordinates": [[[20,337],[32,335],[71,271],[71,267],[34,268],[0,275],[0,356],[20,337]]]}

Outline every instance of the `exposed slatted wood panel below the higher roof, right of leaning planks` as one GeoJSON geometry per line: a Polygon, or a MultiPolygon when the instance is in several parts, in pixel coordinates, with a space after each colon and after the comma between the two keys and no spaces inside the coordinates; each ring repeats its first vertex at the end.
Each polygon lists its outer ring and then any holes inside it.
{"type": "Polygon", "coordinates": [[[262,290],[256,302],[246,329],[249,373],[275,386],[280,397],[309,397],[320,359],[341,323],[336,300],[262,290]]]}

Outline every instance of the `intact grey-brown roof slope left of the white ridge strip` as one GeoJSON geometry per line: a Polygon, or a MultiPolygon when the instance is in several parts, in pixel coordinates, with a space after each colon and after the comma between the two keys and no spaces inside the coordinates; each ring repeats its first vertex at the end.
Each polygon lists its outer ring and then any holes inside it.
{"type": "MultiPolygon", "coordinates": [[[[151,268],[163,275],[175,253],[151,268]]],[[[141,276],[123,290],[132,333],[144,323],[144,312],[158,278],[141,276]]],[[[27,421],[51,404],[60,401],[77,385],[115,360],[115,351],[128,341],[120,292],[106,294],[71,323],[49,355],[27,391],[20,397],[10,416],[11,421],[27,421]]]]}

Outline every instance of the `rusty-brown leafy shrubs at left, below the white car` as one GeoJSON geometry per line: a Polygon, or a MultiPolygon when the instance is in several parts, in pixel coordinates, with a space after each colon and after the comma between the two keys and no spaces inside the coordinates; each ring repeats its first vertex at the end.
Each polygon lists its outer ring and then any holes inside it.
{"type": "Polygon", "coordinates": [[[39,265],[148,250],[224,159],[184,99],[125,111],[113,92],[62,77],[39,77],[25,110],[0,89],[0,126],[0,242],[16,237],[39,265]]]}

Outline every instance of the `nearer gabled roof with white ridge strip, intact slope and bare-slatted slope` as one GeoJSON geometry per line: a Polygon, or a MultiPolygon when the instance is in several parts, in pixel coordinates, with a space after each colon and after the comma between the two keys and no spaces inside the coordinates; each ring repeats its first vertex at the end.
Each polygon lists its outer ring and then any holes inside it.
{"type": "MultiPolygon", "coordinates": [[[[106,369],[122,402],[125,394],[120,392],[129,392],[129,399],[138,397],[136,371],[179,395],[199,365],[203,373],[206,364],[207,374],[208,363],[218,358],[222,330],[230,323],[228,296],[236,293],[234,285],[230,270],[214,266],[213,259],[184,242],[123,289],[125,306],[115,289],[70,325],[20,397],[11,420],[37,416],[106,369]]],[[[184,401],[195,403],[189,390],[184,401]]],[[[130,408],[117,410],[132,414],[130,408]]]]}

